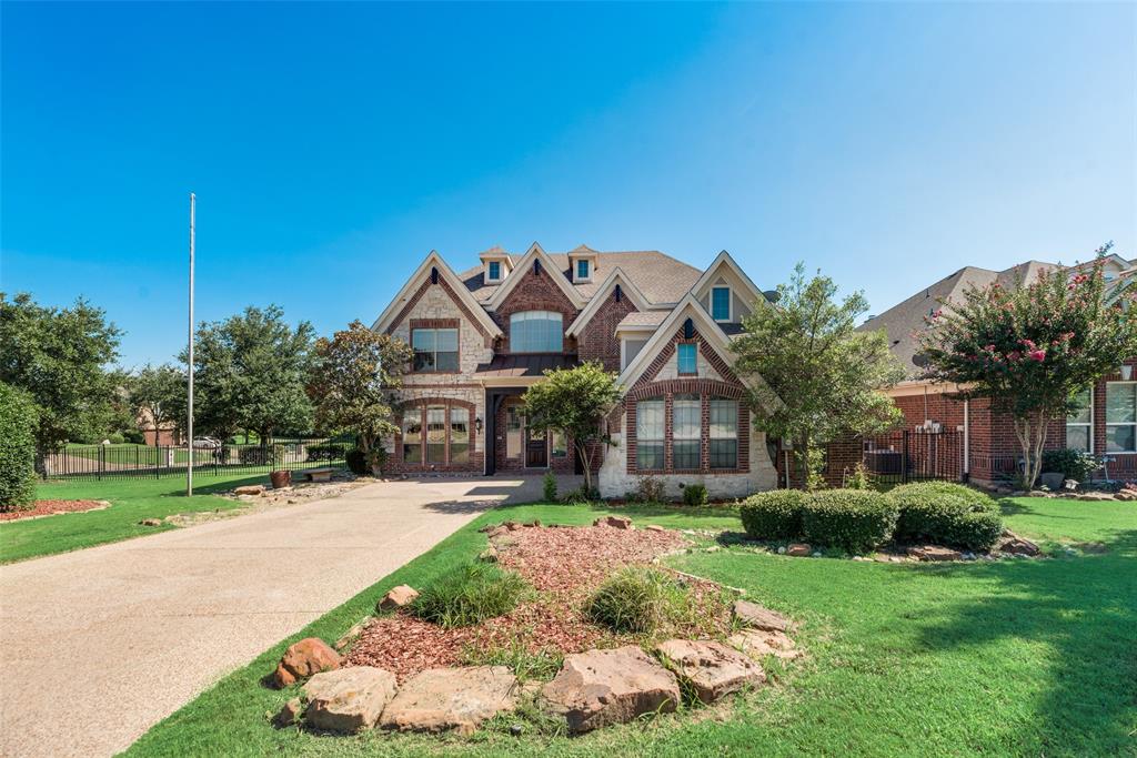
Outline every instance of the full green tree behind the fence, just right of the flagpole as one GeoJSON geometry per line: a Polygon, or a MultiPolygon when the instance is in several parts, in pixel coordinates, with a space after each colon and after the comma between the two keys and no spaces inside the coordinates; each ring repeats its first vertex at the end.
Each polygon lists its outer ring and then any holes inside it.
{"type": "Polygon", "coordinates": [[[310,428],[312,342],[312,324],[292,328],[277,306],[202,323],[193,353],[194,424],[221,439],[254,430],[262,442],[276,431],[310,428]]]}

